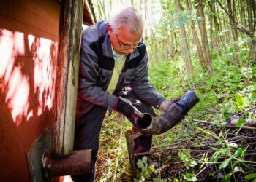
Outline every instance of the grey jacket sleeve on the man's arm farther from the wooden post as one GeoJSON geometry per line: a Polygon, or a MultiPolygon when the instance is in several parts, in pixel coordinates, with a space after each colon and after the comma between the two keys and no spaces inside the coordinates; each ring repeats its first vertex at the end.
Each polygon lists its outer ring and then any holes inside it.
{"type": "Polygon", "coordinates": [[[154,87],[149,84],[147,64],[148,52],[145,51],[143,59],[140,60],[140,63],[138,63],[138,66],[135,68],[135,79],[132,80],[131,87],[142,100],[158,108],[165,98],[159,95],[159,93],[154,90],[154,87]]]}

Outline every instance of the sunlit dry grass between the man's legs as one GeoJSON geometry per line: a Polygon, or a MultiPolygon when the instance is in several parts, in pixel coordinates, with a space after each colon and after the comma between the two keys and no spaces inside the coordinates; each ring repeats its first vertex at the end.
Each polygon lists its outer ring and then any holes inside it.
{"type": "Polygon", "coordinates": [[[124,131],[131,128],[124,116],[108,114],[102,124],[99,137],[96,181],[119,181],[121,175],[129,175],[129,158],[124,131]]]}

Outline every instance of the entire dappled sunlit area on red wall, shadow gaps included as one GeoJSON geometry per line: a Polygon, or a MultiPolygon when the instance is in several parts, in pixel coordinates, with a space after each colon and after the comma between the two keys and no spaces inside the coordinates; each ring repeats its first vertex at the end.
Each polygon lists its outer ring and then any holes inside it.
{"type": "Polygon", "coordinates": [[[17,126],[53,107],[57,50],[56,41],[0,29],[0,103],[17,126]]]}

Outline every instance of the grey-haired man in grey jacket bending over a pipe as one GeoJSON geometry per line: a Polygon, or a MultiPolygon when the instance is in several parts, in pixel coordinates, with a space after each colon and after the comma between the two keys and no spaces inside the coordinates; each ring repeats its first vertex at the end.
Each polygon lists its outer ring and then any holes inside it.
{"type": "MultiPolygon", "coordinates": [[[[148,83],[148,52],[141,37],[144,21],[135,7],[122,9],[110,22],[83,31],[78,85],[74,149],[92,149],[94,165],[99,132],[108,110],[124,114],[136,130],[135,107],[156,116],[151,106],[166,111],[170,102],[148,83]]],[[[152,137],[135,140],[135,153],[148,151],[152,137]]],[[[74,181],[94,181],[94,174],[72,176],[74,181]]]]}

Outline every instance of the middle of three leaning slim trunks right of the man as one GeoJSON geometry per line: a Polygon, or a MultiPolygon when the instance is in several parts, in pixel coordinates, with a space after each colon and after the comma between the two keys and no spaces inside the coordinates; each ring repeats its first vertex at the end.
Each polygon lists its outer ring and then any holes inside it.
{"type": "MultiPolygon", "coordinates": [[[[191,8],[191,1],[186,0],[185,2],[186,2],[187,10],[191,11],[191,9],[192,9],[191,8]]],[[[206,68],[206,61],[203,58],[203,51],[202,51],[202,47],[201,47],[200,41],[199,41],[198,36],[197,36],[197,31],[195,30],[194,21],[190,18],[189,23],[190,23],[190,27],[191,27],[191,31],[192,31],[192,36],[193,36],[193,39],[195,41],[195,45],[197,47],[197,53],[198,53],[200,66],[202,66],[202,68],[206,68]]]]}

